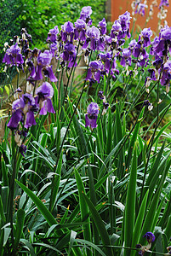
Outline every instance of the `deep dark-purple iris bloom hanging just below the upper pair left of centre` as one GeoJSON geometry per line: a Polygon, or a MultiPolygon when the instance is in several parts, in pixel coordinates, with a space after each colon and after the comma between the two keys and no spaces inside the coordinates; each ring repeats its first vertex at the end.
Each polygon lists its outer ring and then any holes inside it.
{"type": "Polygon", "coordinates": [[[75,45],[66,44],[61,56],[62,56],[63,61],[68,62],[68,67],[73,67],[74,62],[75,62],[74,67],[77,67],[77,62],[75,61],[76,55],[77,55],[77,50],[76,50],[75,45]]]}

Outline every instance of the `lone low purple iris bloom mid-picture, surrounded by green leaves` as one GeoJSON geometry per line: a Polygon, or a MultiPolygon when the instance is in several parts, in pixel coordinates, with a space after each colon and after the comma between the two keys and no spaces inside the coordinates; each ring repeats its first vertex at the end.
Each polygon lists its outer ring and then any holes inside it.
{"type": "Polygon", "coordinates": [[[87,113],[85,114],[85,127],[89,126],[91,129],[97,127],[97,117],[99,114],[99,106],[95,102],[88,105],[87,113]]]}

